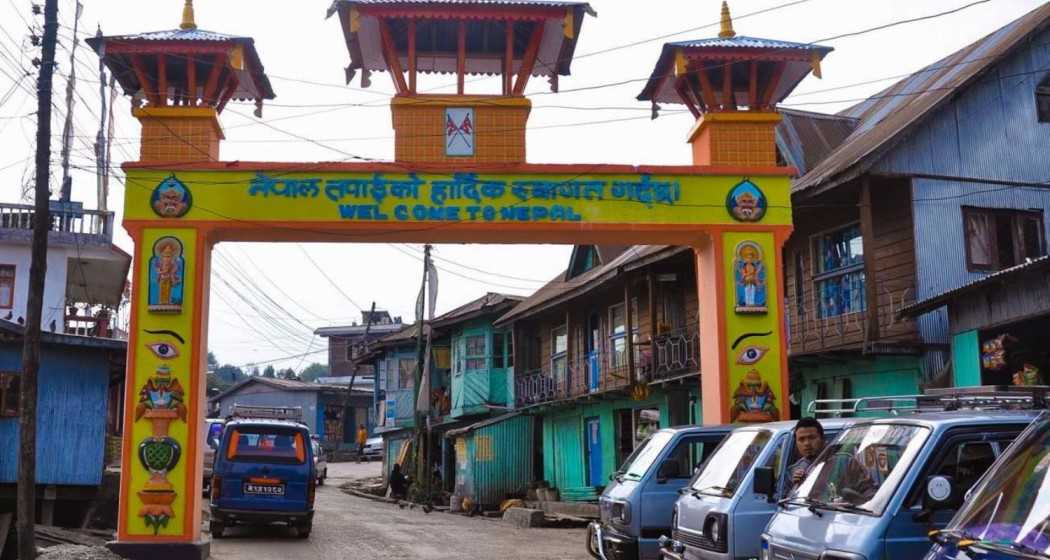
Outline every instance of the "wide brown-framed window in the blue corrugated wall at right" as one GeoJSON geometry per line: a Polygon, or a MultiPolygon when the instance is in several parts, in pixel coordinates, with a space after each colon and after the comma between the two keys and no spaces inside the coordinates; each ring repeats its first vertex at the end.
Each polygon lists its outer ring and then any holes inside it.
{"type": "Polygon", "coordinates": [[[1043,255],[1043,212],[963,208],[966,268],[993,272],[1043,255]]]}

